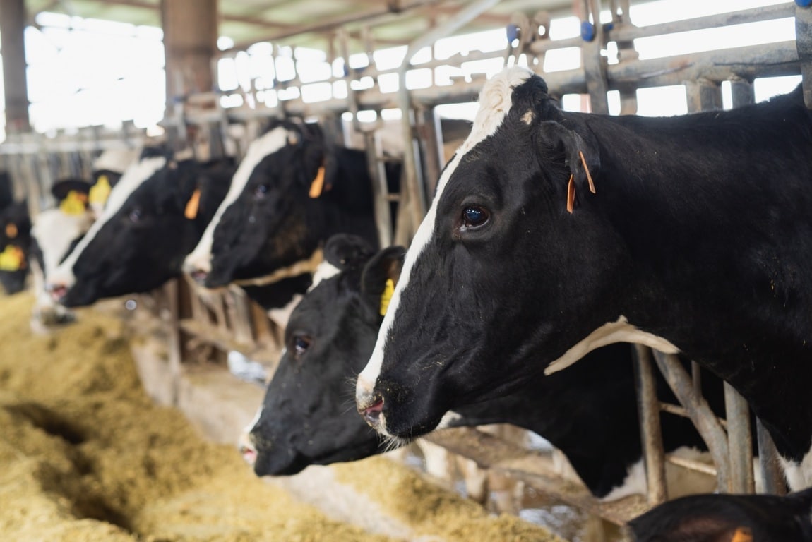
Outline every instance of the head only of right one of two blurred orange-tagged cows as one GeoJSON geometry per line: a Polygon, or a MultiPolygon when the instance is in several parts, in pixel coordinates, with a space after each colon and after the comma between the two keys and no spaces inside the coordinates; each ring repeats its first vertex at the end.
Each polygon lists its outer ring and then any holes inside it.
{"type": "Polygon", "coordinates": [[[336,170],[317,125],[274,121],[249,146],[184,270],[214,288],[311,259],[330,220],[324,201],[342,189],[336,170]]]}

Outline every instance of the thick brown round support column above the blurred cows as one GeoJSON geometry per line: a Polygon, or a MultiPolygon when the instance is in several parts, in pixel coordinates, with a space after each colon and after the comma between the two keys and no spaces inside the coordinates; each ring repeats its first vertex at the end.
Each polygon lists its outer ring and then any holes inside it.
{"type": "Polygon", "coordinates": [[[217,0],[161,0],[167,115],[189,92],[214,88],[217,23],[217,0]]]}

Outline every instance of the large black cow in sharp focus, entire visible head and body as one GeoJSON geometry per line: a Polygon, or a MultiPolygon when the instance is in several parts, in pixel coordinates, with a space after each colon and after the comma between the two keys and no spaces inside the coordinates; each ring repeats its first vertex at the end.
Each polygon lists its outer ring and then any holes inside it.
{"type": "Polygon", "coordinates": [[[729,381],[812,484],[812,114],[801,89],[672,118],[568,113],[512,67],[482,89],[408,249],[359,411],[392,437],[612,342],[729,381]]]}

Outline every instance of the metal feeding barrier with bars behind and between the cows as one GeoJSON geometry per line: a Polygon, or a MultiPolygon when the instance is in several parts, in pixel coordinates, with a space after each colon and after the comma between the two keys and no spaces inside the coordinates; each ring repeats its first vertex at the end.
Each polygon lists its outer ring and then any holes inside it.
{"type": "MultiPolygon", "coordinates": [[[[295,74],[287,80],[279,80],[274,72],[272,81],[262,83],[253,79],[251,88],[239,90],[244,105],[236,108],[222,106],[221,95],[214,93],[203,97],[187,97],[166,118],[166,127],[180,139],[188,133],[188,127],[197,127],[198,135],[205,134],[208,153],[231,153],[240,155],[246,142],[256,134],[261,123],[270,117],[317,118],[325,131],[336,141],[348,139],[349,131],[360,131],[368,153],[369,170],[373,174],[377,196],[377,220],[381,239],[407,244],[421,222],[434,191],[446,157],[442,150],[443,134],[435,108],[438,105],[474,101],[482,88],[484,74],[468,73],[465,66],[473,62],[499,60],[503,64],[526,62],[546,80],[551,92],[557,96],[568,93],[589,97],[590,110],[607,113],[607,92],[620,93],[621,114],[637,110],[636,91],[639,88],[664,85],[685,85],[689,112],[718,110],[722,105],[722,84],[729,83],[732,105],[739,106],[754,101],[753,81],[759,77],[803,74],[805,97],[812,105],[812,10],[803,7],[806,2],[788,2],[777,6],[709,15],[685,19],[667,24],[637,27],[628,18],[628,0],[611,0],[601,6],[598,0],[581,2],[581,37],[551,40],[549,14],[532,16],[517,14],[508,27],[510,43],[507,49],[483,53],[471,51],[436,58],[432,54],[425,62],[412,64],[412,54],[423,46],[434,43],[444,32],[456,30],[464,19],[477,15],[493,2],[473,2],[460,13],[460,19],[437,28],[429,37],[421,39],[408,48],[400,67],[379,69],[373,57],[375,46],[365,32],[365,53],[369,65],[351,68],[348,63],[348,42],[344,32],[335,32],[335,47],[328,60],[343,58],[343,73],[329,75],[318,81],[303,83],[296,62],[295,74]],[[598,14],[608,7],[609,23],[600,23],[598,14]],[[732,49],[718,49],[695,54],[667,58],[641,60],[637,58],[634,41],[639,38],[663,36],[706,28],[726,27],[773,19],[795,18],[795,40],[764,45],[750,45],[732,49]],[[612,44],[612,47],[609,45],[612,44]],[[547,54],[557,49],[579,47],[581,66],[564,71],[545,71],[547,54]],[[615,51],[609,53],[608,51],[615,51]],[[335,56],[339,51],[339,56],[335,56]],[[412,71],[428,70],[431,84],[425,88],[406,87],[405,82],[412,71]],[[460,74],[438,84],[438,73],[460,74]],[[399,86],[395,90],[382,89],[382,82],[395,77],[399,86]],[[304,90],[308,85],[327,84],[333,91],[321,101],[307,101],[304,90]],[[336,88],[343,88],[336,92],[336,88]],[[273,99],[271,99],[271,97],[273,99]],[[205,106],[198,106],[204,103],[205,106]],[[400,110],[400,132],[404,140],[404,176],[400,194],[390,194],[382,175],[382,163],[391,159],[383,154],[381,144],[382,110],[400,110]],[[361,112],[374,111],[378,121],[361,123],[361,112]],[[342,121],[342,114],[352,114],[349,126],[342,121]],[[235,129],[240,128],[240,129],[235,129]],[[239,135],[235,135],[238,134],[239,135]],[[398,212],[393,220],[388,215],[390,203],[397,201],[398,212]],[[392,227],[394,222],[395,226],[392,227]]],[[[231,52],[230,54],[235,54],[231,52]]],[[[292,60],[290,54],[274,47],[270,61],[277,65],[292,60]]],[[[223,93],[226,94],[226,93],[223,93]]],[[[98,140],[93,150],[103,148],[98,140]]],[[[127,136],[127,141],[130,141],[127,136]]],[[[194,144],[195,141],[188,143],[194,144]]],[[[110,143],[112,144],[112,143],[110,143]]],[[[21,175],[30,185],[30,193],[42,189],[36,177],[50,164],[50,157],[57,156],[64,163],[61,148],[46,138],[34,138],[31,142],[10,140],[0,145],[0,160],[12,173],[27,171],[21,175]],[[30,143],[30,144],[29,144],[30,143]],[[43,157],[49,158],[43,158],[43,157]],[[26,165],[27,164],[27,165],[26,165]],[[36,189],[34,187],[37,187],[36,189]]],[[[71,152],[84,152],[80,142],[75,142],[71,152]]],[[[84,162],[83,162],[84,163],[84,162]]],[[[60,166],[61,167],[61,166],[60,166]]],[[[270,369],[274,367],[281,347],[282,330],[274,325],[264,312],[245,298],[239,289],[219,293],[201,294],[193,286],[179,280],[163,290],[171,316],[165,321],[171,329],[171,373],[179,377],[184,370],[184,355],[190,348],[201,344],[219,351],[241,351],[248,357],[261,360],[270,369]]],[[[533,488],[551,494],[562,501],[598,514],[613,523],[624,523],[651,505],[667,500],[665,464],[672,462],[680,467],[692,468],[713,475],[718,480],[719,491],[753,493],[754,471],[751,454],[753,428],[749,427],[749,412],[744,399],[730,386],[725,386],[727,415],[717,419],[699,392],[700,371],[694,363],[691,372],[672,355],[652,352],[637,346],[634,371],[637,375],[641,437],[644,446],[648,495],[645,498],[628,497],[622,501],[603,503],[591,497],[583,486],[564,481],[551,471],[543,454],[526,450],[498,437],[470,429],[452,429],[428,437],[447,450],[472,458],[481,467],[510,475],[533,488]],[[654,369],[656,365],[656,369],[654,369]],[[662,372],[679,404],[663,404],[654,391],[654,370],[662,372]],[[659,413],[667,411],[689,417],[708,445],[713,465],[692,462],[663,454],[659,413]]],[[[764,491],[784,493],[785,486],[777,471],[775,448],[767,432],[758,424],[756,431],[761,477],[764,491]]]]}

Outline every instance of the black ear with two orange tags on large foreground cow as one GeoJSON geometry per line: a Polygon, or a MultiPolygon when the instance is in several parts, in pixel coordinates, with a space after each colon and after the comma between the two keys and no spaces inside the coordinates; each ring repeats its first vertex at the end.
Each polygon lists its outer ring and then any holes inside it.
{"type": "Polygon", "coordinates": [[[539,123],[541,144],[554,152],[564,151],[564,165],[569,168],[567,210],[572,213],[577,194],[595,191],[594,179],[601,166],[598,141],[587,127],[570,129],[555,121],[539,123]]]}

